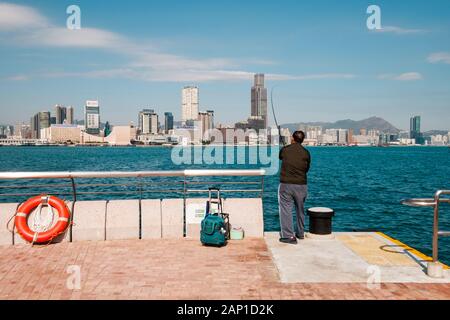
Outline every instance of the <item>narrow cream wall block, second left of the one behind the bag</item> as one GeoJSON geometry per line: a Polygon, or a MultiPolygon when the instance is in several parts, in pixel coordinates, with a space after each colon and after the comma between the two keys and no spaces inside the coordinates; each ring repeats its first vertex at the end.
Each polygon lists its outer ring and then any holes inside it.
{"type": "Polygon", "coordinates": [[[161,239],[161,200],[141,201],[142,239],[161,239]]]}

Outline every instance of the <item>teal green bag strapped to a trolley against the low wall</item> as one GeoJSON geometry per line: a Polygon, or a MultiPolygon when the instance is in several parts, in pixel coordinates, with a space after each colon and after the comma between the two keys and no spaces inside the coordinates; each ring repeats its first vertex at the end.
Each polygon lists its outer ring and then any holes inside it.
{"type": "Polygon", "coordinates": [[[225,220],[221,216],[207,214],[201,226],[200,241],[203,245],[223,247],[227,244],[225,220]]]}

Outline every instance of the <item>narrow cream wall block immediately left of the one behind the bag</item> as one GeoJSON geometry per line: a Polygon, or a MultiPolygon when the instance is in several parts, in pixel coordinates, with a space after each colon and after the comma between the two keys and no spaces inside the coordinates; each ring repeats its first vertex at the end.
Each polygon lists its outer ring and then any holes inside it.
{"type": "Polygon", "coordinates": [[[164,239],[179,239],[184,236],[183,199],[161,201],[161,225],[164,239]]]}

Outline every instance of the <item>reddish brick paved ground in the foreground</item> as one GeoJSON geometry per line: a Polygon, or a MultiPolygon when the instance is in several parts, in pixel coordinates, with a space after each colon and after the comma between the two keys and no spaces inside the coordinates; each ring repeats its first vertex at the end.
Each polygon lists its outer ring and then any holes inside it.
{"type": "Polygon", "coordinates": [[[0,299],[450,299],[450,284],[282,284],[262,239],[136,240],[1,247],[0,299]]]}

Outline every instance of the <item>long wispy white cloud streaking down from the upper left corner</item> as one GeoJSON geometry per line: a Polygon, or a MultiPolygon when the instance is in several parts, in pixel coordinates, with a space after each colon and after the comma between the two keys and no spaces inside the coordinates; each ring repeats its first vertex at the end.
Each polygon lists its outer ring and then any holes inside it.
{"type": "MultiPolygon", "coordinates": [[[[82,28],[69,30],[55,26],[33,8],[7,3],[0,4],[0,32],[13,31],[7,37],[7,45],[16,44],[31,47],[101,49],[124,55],[129,59],[125,66],[107,70],[87,72],[52,72],[44,75],[18,75],[23,77],[87,77],[87,78],[129,78],[142,81],[234,81],[252,79],[254,73],[242,69],[246,65],[273,65],[273,61],[248,59],[235,61],[226,58],[192,59],[161,52],[154,44],[142,44],[122,35],[102,29],[82,28]]],[[[285,75],[269,74],[275,81],[312,79],[351,79],[351,74],[285,75]]]]}

